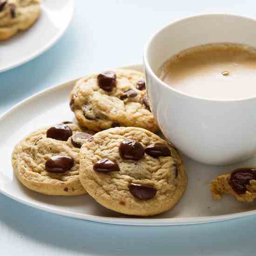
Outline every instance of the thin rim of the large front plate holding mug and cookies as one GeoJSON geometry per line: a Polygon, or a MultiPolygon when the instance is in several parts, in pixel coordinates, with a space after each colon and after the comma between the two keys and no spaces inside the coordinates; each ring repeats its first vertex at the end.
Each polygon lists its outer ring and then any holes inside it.
{"type": "MultiPolygon", "coordinates": [[[[133,68],[139,68],[139,67],[141,68],[141,67],[143,67],[143,65],[137,64],[137,65],[129,65],[126,67],[117,67],[117,68],[133,69],[133,68]]],[[[97,72],[94,72],[94,73],[97,73],[97,72]]],[[[0,115],[0,122],[4,118],[7,118],[8,115],[12,114],[13,111],[15,111],[21,105],[29,104],[29,102],[31,100],[41,97],[44,94],[50,93],[56,89],[66,87],[70,83],[74,83],[75,81],[77,81],[80,78],[81,77],[72,79],[70,81],[61,83],[59,85],[51,86],[50,88],[43,89],[40,92],[27,97],[26,99],[20,101],[19,103],[14,105],[12,108],[5,111],[2,115],[0,115]]],[[[210,223],[210,222],[221,222],[221,221],[227,221],[227,220],[246,217],[246,216],[252,216],[252,215],[256,214],[256,209],[254,209],[254,210],[243,211],[243,212],[232,213],[232,214],[225,214],[225,215],[188,217],[188,218],[184,218],[184,217],[183,218],[155,218],[155,217],[143,218],[143,217],[139,217],[139,216],[135,217],[135,218],[104,217],[104,216],[92,216],[92,215],[88,215],[88,214],[74,213],[74,212],[60,210],[60,209],[54,209],[52,207],[41,205],[40,202],[31,202],[29,200],[19,198],[19,196],[15,196],[15,195],[12,195],[11,193],[8,193],[7,191],[4,191],[1,187],[0,187],[0,193],[2,193],[3,195],[6,195],[7,197],[9,197],[17,202],[23,203],[23,204],[33,207],[35,209],[40,209],[40,210],[43,210],[43,211],[46,211],[46,212],[49,212],[52,214],[68,216],[68,217],[72,217],[72,218],[83,219],[83,220],[93,221],[93,222],[119,224],[119,225],[135,225],[135,226],[189,225],[189,224],[201,224],[201,223],[210,223]]]]}

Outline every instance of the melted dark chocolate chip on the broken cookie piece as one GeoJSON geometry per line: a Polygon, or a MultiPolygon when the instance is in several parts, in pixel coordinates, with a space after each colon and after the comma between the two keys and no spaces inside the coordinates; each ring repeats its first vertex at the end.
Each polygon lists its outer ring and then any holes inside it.
{"type": "Polygon", "coordinates": [[[231,172],[230,186],[237,194],[244,194],[250,180],[256,180],[256,168],[238,168],[231,172]]]}

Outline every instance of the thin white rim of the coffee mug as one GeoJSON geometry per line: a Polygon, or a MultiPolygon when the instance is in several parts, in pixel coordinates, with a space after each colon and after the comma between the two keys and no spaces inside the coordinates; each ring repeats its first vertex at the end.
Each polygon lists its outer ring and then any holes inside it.
{"type": "Polygon", "coordinates": [[[149,40],[147,41],[147,43],[144,46],[144,50],[143,50],[143,62],[144,62],[144,68],[147,68],[148,72],[150,73],[151,76],[153,76],[156,81],[158,83],[161,84],[161,86],[168,88],[169,90],[173,91],[175,94],[178,94],[179,96],[183,96],[183,97],[189,97],[195,100],[201,100],[201,101],[211,101],[211,102],[240,102],[240,101],[248,101],[248,100],[255,100],[256,99],[256,95],[252,96],[252,97],[248,97],[248,98],[243,98],[243,99],[209,99],[209,98],[204,98],[204,97],[200,97],[200,96],[194,96],[194,95],[190,95],[190,94],[186,94],[180,90],[177,90],[171,86],[168,86],[165,82],[163,82],[156,74],[155,72],[152,70],[152,68],[149,65],[148,62],[148,49],[151,46],[152,41],[159,35],[162,33],[163,30],[165,30],[166,28],[175,25],[176,23],[185,21],[185,20],[192,20],[195,18],[203,18],[206,16],[233,16],[236,18],[242,18],[242,19],[246,19],[246,20],[250,20],[256,23],[256,19],[248,17],[248,16],[243,16],[243,15],[237,15],[237,14],[232,14],[232,13],[205,13],[205,14],[197,14],[197,15],[192,15],[192,16],[187,16],[181,19],[177,19],[174,20],[170,23],[168,23],[167,25],[163,26],[162,28],[160,28],[159,30],[157,30],[153,35],[151,35],[151,37],[149,38],[149,40]]]}

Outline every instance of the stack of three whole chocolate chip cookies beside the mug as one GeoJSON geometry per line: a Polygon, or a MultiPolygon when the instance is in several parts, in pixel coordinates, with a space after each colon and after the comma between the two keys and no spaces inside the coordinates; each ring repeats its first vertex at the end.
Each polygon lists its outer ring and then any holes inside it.
{"type": "Polygon", "coordinates": [[[13,169],[28,189],[88,194],[108,209],[152,216],[171,209],[186,189],[182,158],[162,140],[142,73],[88,75],[70,94],[78,123],[41,128],[13,150],[13,169]]]}

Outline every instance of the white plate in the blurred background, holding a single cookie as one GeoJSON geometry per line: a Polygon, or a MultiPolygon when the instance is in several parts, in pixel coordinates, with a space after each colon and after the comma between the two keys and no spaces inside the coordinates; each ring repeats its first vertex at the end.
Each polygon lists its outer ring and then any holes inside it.
{"type": "Polygon", "coordinates": [[[26,31],[0,41],[0,72],[45,52],[63,35],[74,12],[74,0],[41,0],[41,15],[26,31]]]}

